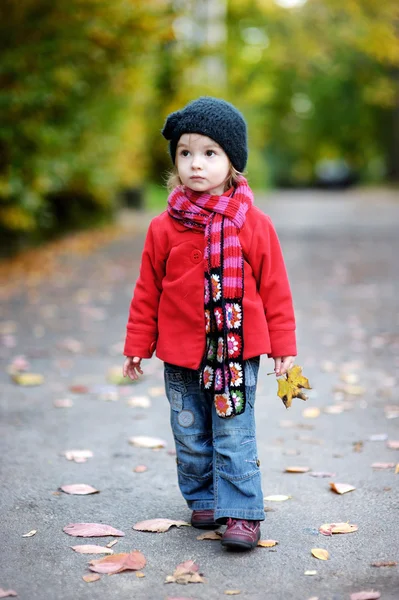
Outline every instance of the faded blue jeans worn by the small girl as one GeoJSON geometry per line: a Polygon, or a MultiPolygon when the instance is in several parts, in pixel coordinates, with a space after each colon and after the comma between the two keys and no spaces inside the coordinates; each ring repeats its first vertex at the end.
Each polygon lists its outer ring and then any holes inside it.
{"type": "Polygon", "coordinates": [[[165,363],[181,493],[191,510],[213,509],[220,523],[265,518],[254,419],[258,370],[259,357],[245,361],[245,411],[220,418],[199,371],[165,363]]]}

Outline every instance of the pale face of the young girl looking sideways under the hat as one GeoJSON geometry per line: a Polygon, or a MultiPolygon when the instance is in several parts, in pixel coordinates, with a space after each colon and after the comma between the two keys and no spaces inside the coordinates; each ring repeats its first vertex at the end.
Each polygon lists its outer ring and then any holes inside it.
{"type": "Polygon", "coordinates": [[[230,174],[230,160],[211,138],[184,133],[176,149],[176,167],[183,185],[195,192],[221,195],[230,174]]]}

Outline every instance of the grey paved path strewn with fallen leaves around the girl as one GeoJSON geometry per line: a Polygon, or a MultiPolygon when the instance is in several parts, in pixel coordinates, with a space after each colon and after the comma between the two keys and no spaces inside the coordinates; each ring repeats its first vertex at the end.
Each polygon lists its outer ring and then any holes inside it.
{"type": "Polygon", "coordinates": [[[371,467],[397,463],[398,452],[386,440],[369,438],[399,439],[399,203],[383,190],[287,192],[258,203],[281,237],[298,318],[297,362],[314,387],[306,404],[294,400],[286,410],[274,378],[266,376],[272,362],[262,359],[257,426],[264,495],[291,496],[265,502],[262,538],[279,544],[226,554],[218,542],[197,541],[200,532],[191,527],[163,534],[132,530],[143,519],[189,519],[189,511],[168,453],[173,439],[161,363],[147,362],[145,377],[129,390],[117,394],[104,387],[108,369],[122,362],[145,230],[145,218],[125,215],[118,239],[86,257],[62,256],[56,272],[43,280],[30,277],[5,303],[4,366],[24,354],[45,383],[23,388],[2,375],[0,587],[16,590],[22,600],[205,600],[224,598],[232,589],[241,590],[243,600],[349,600],[350,593],[370,589],[383,600],[397,600],[399,566],[370,563],[399,562],[399,475],[394,468],[371,467]],[[355,385],[364,394],[337,390],[345,385],[342,376],[358,376],[355,385]],[[89,391],[74,394],[72,384],[89,391]],[[132,395],[149,397],[151,409],[129,406],[132,395]],[[64,398],[73,406],[54,407],[64,398]],[[308,418],[305,408],[319,408],[320,415],[308,418]],[[162,437],[167,449],[134,448],[128,444],[134,435],[162,437]],[[69,462],[61,453],[70,449],[90,449],[94,457],[69,462]],[[139,464],[148,470],[133,472],[139,464]],[[291,465],[336,475],[285,473],[291,465]],[[356,490],[334,494],[330,481],[356,490]],[[101,492],[57,493],[70,483],[101,492]],[[358,531],[318,533],[323,523],[345,521],[358,531]],[[85,541],[63,533],[76,522],[122,529],[126,535],[114,550],[140,549],[147,558],[145,578],[126,572],[85,583],[87,563],[97,557],[76,554],[70,546],[113,538],[85,541]],[[35,536],[22,537],[32,529],[35,536]],[[325,548],[330,559],[317,560],[312,548],[325,548]],[[188,559],[199,564],[207,583],[165,585],[165,577],[188,559]],[[307,570],[317,573],[305,575],[307,570]]]}

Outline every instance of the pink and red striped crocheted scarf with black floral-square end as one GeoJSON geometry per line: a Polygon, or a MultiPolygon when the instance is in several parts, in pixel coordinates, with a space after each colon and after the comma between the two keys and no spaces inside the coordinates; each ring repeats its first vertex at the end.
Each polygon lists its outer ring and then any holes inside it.
{"type": "Polygon", "coordinates": [[[204,304],[206,350],[201,387],[213,396],[219,417],[245,410],[243,306],[244,259],[238,233],[253,193],[245,177],[224,195],[175,188],[168,213],[186,227],[205,233],[204,304]]]}

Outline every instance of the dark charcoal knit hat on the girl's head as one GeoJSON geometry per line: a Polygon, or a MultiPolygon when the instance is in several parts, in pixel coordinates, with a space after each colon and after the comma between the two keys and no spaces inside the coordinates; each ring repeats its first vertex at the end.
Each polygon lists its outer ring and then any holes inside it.
{"type": "Polygon", "coordinates": [[[244,171],[248,158],[247,126],[240,111],[230,102],[201,96],[167,117],[162,135],[169,141],[173,164],[177,143],[184,133],[212,138],[226,152],[233,167],[244,171]]]}

